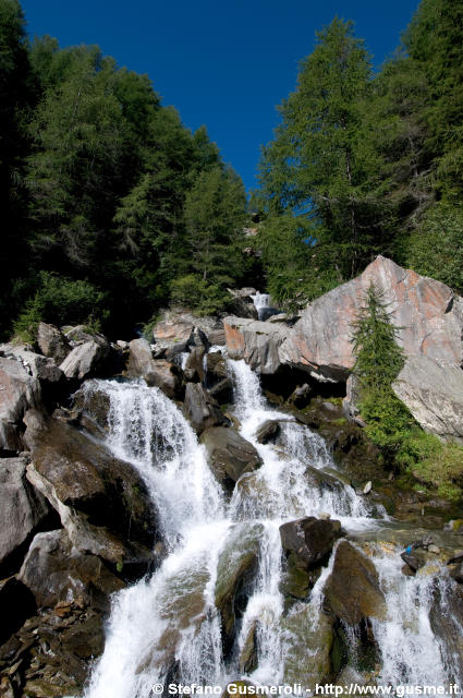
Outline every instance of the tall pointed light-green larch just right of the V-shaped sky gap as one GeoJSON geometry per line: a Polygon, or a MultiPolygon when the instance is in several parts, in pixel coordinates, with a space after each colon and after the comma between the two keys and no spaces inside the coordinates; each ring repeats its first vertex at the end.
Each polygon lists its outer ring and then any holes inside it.
{"type": "Polygon", "coordinates": [[[272,215],[292,212],[309,232],[316,257],[305,275],[313,292],[320,276],[354,276],[382,234],[378,157],[364,129],[370,81],[363,40],[352,22],[336,17],[317,33],[296,91],[279,109],[276,137],[263,151],[261,205],[272,215]]]}

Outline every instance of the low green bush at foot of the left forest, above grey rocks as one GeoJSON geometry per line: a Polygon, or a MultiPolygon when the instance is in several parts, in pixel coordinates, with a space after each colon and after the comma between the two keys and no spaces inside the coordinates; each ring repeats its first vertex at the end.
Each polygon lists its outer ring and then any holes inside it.
{"type": "Polygon", "coordinates": [[[87,323],[99,329],[100,321],[106,318],[105,300],[105,294],[88,281],[41,272],[39,287],[15,321],[14,333],[33,341],[40,321],[54,325],[87,323]]]}

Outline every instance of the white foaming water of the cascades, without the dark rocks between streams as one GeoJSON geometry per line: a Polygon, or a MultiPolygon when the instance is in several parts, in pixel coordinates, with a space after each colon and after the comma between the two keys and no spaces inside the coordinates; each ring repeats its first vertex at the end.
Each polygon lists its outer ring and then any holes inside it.
{"type": "MultiPolygon", "coordinates": [[[[241,478],[229,503],[190,424],[160,390],[134,382],[86,384],[86,390],[99,390],[109,399],[107,444],[146,481],[169,553],[150,579],[115,597],[105,653],[92,676],[88,698],[107,698],[108,690],[114,698],[148,698],[153,684],[169,677],[224,685],[240,676],[240,651],[251,631],[256,636],[257,669],[248,677],[265,685],[281,683],[294,634],[280,592],[284,570],[280,525],[321,513],[357,533],[381,524],[371,518],[365,497],[336,478],[325,442],[288,414],[272,410],[258,376],[243,361],[229,361],[228,368],[241,434],[263,459],[257,471],[241,478]],[[277,445],[256,440],[257,428],[269,419],[281,423],[277,445]],[[234,651],[224,662],[216,581],[221,555],[230,546],[239,550],[246,534],[258,541],[258,566],[237,623],[234,651]]],[[[387,519],[386,514],[382,517],[387,519]]],[[[382,658],[380,682],[429,683],[429,666],[435,683],[460,678],[454,658],[426,621],[432,578],[406,578],[397,554],[382,555],[379,547],[376,552],[374,561],[390,611],[386,622],[373,622],[382,658]]],[[[308,610],[307,633],[317,631],[332,561],[333,556],[322,569],[309,604],[302,604],[308,610]]],[[[443,612],[444,589],[441,597],[443,612]]]]}

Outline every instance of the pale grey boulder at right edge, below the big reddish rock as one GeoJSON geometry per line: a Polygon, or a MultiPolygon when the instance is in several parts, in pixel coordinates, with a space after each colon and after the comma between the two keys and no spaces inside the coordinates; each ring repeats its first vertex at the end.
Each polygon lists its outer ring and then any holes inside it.
{"type": "Polygon", "coordinates": [[[426,431],[463,443],[463,371],[409,357],[392,388],[426,431]]]}

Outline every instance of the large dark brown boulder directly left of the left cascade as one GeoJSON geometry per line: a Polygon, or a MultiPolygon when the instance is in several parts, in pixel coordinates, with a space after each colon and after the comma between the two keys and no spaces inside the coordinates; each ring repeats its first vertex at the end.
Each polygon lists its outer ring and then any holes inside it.
{"type": "Polygon", "coordinates": [[[34,442],[27,479],[80,551],[135,568],[150,561],[157,518],[146,485],[102,444],[54,419],[34,442]]]}

